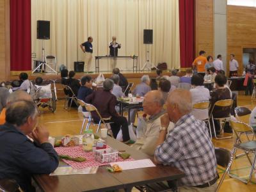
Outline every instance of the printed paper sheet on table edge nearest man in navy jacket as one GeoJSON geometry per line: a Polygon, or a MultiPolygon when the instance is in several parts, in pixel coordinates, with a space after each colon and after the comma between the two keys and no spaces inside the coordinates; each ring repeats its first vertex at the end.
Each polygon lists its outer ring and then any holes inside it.
{"type": "Polygon", "coordinates": [[[83,169],[74,169],[72,166],[60,166],[50,175],[85,175],[97,173],[99,166],[93,166],[83,169]]]}

